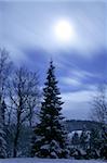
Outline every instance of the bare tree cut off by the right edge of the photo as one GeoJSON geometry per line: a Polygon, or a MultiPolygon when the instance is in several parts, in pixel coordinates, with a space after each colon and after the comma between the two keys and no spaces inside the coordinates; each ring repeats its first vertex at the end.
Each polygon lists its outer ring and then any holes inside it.
{"type": "Polygon", "coordinates": [[[98,88],[96,97],[93,100],[93,120],[99,122],[98,139],[99,154],[107,159],[107,88],[106,85],[98,88]]]}

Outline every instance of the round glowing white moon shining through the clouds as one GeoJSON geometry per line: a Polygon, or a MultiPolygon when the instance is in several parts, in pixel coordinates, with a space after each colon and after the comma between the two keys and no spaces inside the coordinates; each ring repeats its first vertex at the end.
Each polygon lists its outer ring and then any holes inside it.
{"type": "Polygon", "coordinates": [[[75,39],[75,29],[69,21],[58,21],[55,24],[54,32],[59,42],[70,42],[75,39]]]}

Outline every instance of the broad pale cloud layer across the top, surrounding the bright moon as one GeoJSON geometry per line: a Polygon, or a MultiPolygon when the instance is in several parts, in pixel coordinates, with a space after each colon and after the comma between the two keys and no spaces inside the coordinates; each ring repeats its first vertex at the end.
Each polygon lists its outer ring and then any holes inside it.
{"type": "MultiPolygon", "coordinates": [[[[106,47],[105,2],[0,2],[3,39],[17,46],[39,46],[46,50],[77,49],[91,57],[91,50],[106,47]],[[3,10],[2,10],[3,9],[3,10]],[[43,16],[42,16],[43,15],[43,16]],[[58,45],[52,30],[58,18],[69,18],[77,33],[75,45],[58,45]],[[65,47],[65,48],[64,48],[65,47]],[[89,52],[88,52],[89,51],[89,52]]],[[[2,41],[2,40],[0,40],[2,41]]]]}

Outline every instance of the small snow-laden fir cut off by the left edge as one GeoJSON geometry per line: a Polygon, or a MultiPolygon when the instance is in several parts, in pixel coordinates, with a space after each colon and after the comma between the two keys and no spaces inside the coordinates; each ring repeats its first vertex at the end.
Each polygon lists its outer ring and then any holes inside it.
{"type": "Polygon", "coordinates": [[[6,158],[6,141],[4,133],[4,122],[2,116],[2,100],[0,98],[0,158],[6,158]]]}

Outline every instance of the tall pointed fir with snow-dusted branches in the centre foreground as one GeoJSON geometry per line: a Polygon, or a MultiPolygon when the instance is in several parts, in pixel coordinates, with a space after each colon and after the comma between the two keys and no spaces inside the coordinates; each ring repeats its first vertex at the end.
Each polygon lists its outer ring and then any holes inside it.
{"type": "Polygon", "coordinates": [[[50,62],[43,102],[40,111],[40,123],[35,128],[32,155],[39,158],[67,158],[67,134],[63,125],[62,98],[54,75],[53,62],[50,62]]]}

